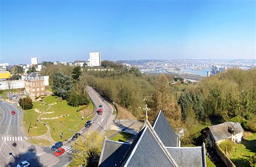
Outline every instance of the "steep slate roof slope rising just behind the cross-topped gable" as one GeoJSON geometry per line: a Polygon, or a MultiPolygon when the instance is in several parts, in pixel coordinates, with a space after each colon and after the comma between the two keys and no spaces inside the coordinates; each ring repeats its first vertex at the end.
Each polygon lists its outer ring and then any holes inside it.
{"type": "Polygon", "coordinates": [[[174,132],[162,111],[158,113],[157,119],[153,124],[153,129],[156,131],[165,147],[179,146],[179,136],[174,132]]]}

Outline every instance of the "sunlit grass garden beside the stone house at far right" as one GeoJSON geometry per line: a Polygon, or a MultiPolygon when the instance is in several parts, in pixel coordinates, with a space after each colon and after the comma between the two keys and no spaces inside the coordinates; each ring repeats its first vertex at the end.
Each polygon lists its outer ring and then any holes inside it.
{"type": "Polygon", "coordinates": [[[235,149],[229,157],[236,166],[247,166],[247,158],[255,153],[256,133],[244,132],[244,139],[241,143],[235,144],[235,149]]]}

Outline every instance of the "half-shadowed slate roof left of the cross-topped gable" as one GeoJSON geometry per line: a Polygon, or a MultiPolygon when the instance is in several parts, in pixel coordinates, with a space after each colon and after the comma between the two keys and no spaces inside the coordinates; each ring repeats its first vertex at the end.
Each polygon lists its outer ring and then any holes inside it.
{"type": "Polygon", "coordinates": [[[99,158],[99,166],[104,167],[118,165],[130,146],[130,143],[105,139],[102,147],[102,153],[99,158]]]}

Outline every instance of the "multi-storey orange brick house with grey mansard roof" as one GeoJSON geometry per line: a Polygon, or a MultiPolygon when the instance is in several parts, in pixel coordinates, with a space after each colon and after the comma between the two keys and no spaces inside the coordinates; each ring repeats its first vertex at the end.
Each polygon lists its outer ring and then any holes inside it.
{"type": "Polygon", "coordinates": [[[24,81],[25,95],[38,96],[45,93],[44,77],[37,72],[31,72],[24,81]]]}

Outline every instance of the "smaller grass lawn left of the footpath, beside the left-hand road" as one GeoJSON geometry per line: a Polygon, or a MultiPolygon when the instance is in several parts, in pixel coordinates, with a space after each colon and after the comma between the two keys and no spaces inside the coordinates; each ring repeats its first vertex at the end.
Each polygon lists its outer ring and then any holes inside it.
{"type": "Polygon", "coordinates": [[[32,136],[39,136],[39,135],[45,134],[47,132],[47,128],[43,124],[36,121],[39,113],[34,111],[35,108],[38,108],[40,111],[44,111],[46,110],[46,108],[48,108],[48,105],[43,105],[43,103],[37,102],[37,101],[33,102],[33,108],[30,110],[24,111],[23,125],[26,129],[26,132],[28,133],[27,124],[26,124],[26,120],[28,118],[28,122],[31,122],[29,133],[32,136]]]}

